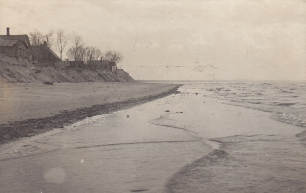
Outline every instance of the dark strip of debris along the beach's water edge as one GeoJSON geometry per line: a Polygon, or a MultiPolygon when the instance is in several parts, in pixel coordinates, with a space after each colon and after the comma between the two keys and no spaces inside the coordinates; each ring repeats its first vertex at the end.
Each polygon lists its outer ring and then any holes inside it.
{"type": "MultiPolygon", "coordinates": [[[[154,86],[154,84],[146,84],[145,86],[152,85],[158,89],[158,86],[154,86]]],[[[152,100],[163,98],[168,95],[178,93],[177,89],[182,85],[167,84],[166,86],[167,87],[161,89],[160,92],[154,90],[151,91],[150,94],[142,94],[143,96],[140,97],[137,97],[137,94],[140,94],[140,91],[136,90],[132,96],[127,96],[125,100],[120,100],[120,98],[114,102],[107,102],[108,100],[106,100],[105,103],[101,104],[93,104],[91,106],[77,107],[69,110],[60,110],[59,113],[55,114],[54,116],[43,116],[39,118],[30,118],[22,121],[12,121],[9,123],[0,124],[0,145],[15,141],[21,137],[31,137],[56,128],[63,128],[64,126],[71,125],[88,117],[109,114],[152,100]]],[[[144,89],[147,90],[146,88],[144,89]]]]}

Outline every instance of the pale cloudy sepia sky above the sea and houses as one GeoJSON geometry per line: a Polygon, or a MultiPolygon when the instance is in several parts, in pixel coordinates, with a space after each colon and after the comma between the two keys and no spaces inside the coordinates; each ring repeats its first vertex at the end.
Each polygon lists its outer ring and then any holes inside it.
{"type": "Polygon", "coordinates": [[[0,0],[0,34],[75,32],[139,80],[306,80],[305,1],[0,0]]]}

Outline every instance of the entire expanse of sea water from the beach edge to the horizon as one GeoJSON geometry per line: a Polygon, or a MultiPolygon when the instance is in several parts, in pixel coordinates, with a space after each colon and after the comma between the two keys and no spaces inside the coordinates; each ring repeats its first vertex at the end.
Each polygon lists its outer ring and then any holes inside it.
{"type": "Polygon", "coordinates": [[[305,81],[170,83],[0,146],[0,192],[306,192],[305,81]]]}

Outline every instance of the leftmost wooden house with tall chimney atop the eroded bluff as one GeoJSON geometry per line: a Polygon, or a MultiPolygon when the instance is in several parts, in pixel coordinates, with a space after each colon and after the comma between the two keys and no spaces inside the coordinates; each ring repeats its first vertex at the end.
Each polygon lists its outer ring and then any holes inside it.
{"type": "Polygon", "coordinates": [[[7,27],[7,35],[0,35],[0,53],[32,59],[28,35],[10,35],[10,28],[7,27]]]}

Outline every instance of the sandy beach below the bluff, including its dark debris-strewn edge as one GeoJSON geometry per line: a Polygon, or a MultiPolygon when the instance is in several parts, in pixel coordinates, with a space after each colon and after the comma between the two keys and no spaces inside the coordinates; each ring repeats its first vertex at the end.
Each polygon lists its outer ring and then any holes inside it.
{"type": "Polygon", "coordinates": [[[164,97],[177,85],[41,82],[0,85],[0,144],[164,97]]]}

